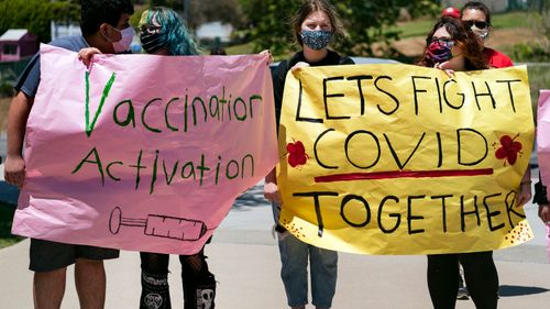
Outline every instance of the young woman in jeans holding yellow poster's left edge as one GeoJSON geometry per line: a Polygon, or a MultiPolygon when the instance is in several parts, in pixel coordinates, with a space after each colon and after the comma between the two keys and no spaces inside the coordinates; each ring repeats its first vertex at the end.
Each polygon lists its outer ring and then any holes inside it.
{"type": "MultiPolygon", "coordinates": [[[[277,128],[283,104],[285,77],[288,70],[305,66],[353,64],[348,57],[328,48],[336,35],[342,34],[342,24],[329,1],[304,1],[293,19],[293,31],[301,51],[289,60],[282,62],[273,71],[277,128]]],[[[275,169],[265,178],[264,196],[273,202],[275,231],[280,252],[280,277],[285,286],[288,306],[306,308],[308,304],[308,260],[310,262],[311,295],[316,308],[330,308],[337,285],[338,253],[301,242],[278,224],[282,198],[275,178],[275,169]]]]}

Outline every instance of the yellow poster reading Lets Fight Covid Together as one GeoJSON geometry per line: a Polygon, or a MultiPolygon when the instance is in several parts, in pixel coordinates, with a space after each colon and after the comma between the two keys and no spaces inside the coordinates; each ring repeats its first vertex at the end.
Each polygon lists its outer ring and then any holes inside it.
{"type": "Polygon", "coordinates": [[[363,254],[496,250],[532,238],[521,207],[534,124],[526,67],[408,65],[289,73],[280,223],[363,254]]]}

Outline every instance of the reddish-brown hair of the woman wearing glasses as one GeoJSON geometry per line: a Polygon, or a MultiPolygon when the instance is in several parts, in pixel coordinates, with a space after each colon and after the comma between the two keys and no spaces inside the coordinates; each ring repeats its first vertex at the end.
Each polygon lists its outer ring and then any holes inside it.
{"type": "Polygon", "coordinates": [[[420,66],[433,67],[433,60],[428,57],[426,51],[431,43],[433,33],[439,29],[443,27],[449,32],[451,38],[457,42],[457,45],[462,49],[465,60],[466,70],[484,69],[488,68],[485,54],[483,54],[483,46],[475,33],[468,26],[465,26],[461,20],[450,16],[440,18],[433,25],[433,29],[426,36],[426,48],[424,51],[424,57],[418,63],[420,66]]]}

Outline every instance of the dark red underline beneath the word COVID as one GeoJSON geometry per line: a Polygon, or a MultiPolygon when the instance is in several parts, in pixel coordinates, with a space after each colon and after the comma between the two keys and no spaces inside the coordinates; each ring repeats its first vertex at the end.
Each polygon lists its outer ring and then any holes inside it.
{"type": "Polygon", "coordinates": [[[391,178],[438,178],[493,175],[493,168],[443,169],[443,170],[391,170],[374,173],[349,173],[315,177],[316,183],[353,181],[391,178]]]}

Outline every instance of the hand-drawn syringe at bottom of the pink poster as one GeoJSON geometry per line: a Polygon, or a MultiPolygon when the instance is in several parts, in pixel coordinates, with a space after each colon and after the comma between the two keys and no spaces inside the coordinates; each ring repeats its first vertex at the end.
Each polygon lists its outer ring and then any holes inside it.
{"type": "Polygon", "coordinates": [[[205,222],[185,218],[160,214],[148,214],[146,219],[123,218],[120,207],[116,207],[109,218],[109,230],[118,234],[121,225],[145,228],[145,235],[179,241],[197,241],[208,230],[205,222]]]}

